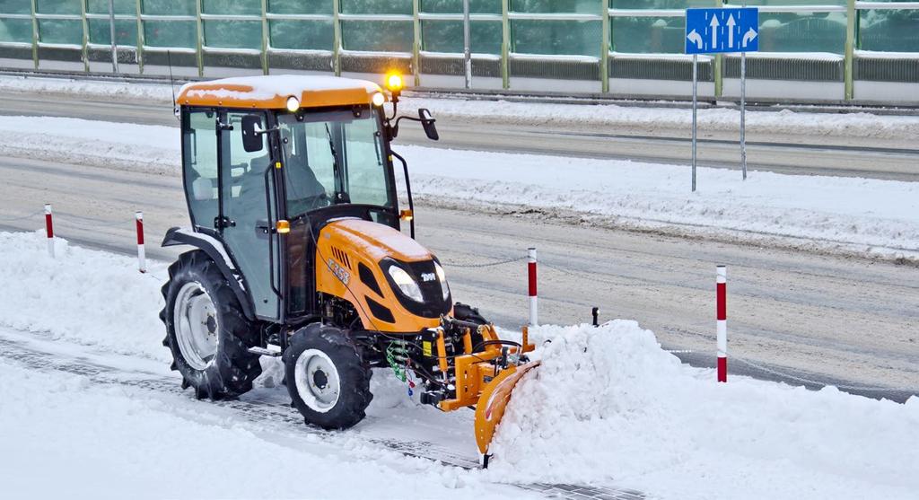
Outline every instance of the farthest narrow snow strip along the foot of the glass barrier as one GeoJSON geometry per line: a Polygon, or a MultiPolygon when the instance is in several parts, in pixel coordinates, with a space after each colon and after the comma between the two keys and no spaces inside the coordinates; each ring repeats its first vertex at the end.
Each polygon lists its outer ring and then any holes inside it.
{"type": "MultiPolygon", "coordinates": [[[[175,86],[176,94],[179,85],[175,86]]],[[[144,99],[170,103],[169,85],[119,83],[62,78],[0,76],[0,92],[30,92],[96,99],[144,99]]],[[[692,113],[687,108],[628,107],[617,105],[567,105],[505,100],[403,97],[403,112],[430,108],[440,118],[479,119],[498,123],[581,127],[629,127],[688,130],[692,113]]],[[[698,126],[704,131],[735,131],[740,112],[727,108],[698,111],[698,126]]],[[[919,138],[919,117],[880,116],[869,113],[808,113],[800,111],[749,111],[750,133],[827,135],[875,139],[919,138]]]]}

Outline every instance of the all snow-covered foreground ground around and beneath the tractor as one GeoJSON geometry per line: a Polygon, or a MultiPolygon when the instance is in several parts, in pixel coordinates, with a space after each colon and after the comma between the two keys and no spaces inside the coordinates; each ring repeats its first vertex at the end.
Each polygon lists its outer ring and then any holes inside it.
{"type": "Polygon", "coordinates": [[[64,241],[57,255],[40,232],[0,233],[0,276],[16,283],[0,288],[0,353],[38,353],[0,357],[0,377],[15,381],[0,384],[5,497],[516,497],[530,493],[507,484],[547,482],[680,499],[907,499],[919,489],[919,399],[718,384],[630,321],[533,331],[551,342],[517,387],[488,471],[380,444],[474,450],[471,415],[414,404],[386,370],[374,374],[369,418],[343,433],[284,420],[293,410],[272,369],[249,399],[197,402],[177,390],[159,344],[165,265],[142,275],[129,257],[64,241]]]}

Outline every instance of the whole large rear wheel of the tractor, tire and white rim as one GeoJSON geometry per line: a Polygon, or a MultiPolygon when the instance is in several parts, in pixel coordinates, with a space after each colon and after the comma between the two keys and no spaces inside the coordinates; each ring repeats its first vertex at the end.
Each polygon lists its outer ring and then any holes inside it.
{"type": "Polygon", "coordinates": [[[183,388],[194,388],[199,399],[251,390],[262,372],[258,355],[247,350],[257,344],[258,328],[210,257],[200,250],[179,256],[169,267],[163,297],[163,345],[172,351],[172,369],[182,374],[183,388]]]}

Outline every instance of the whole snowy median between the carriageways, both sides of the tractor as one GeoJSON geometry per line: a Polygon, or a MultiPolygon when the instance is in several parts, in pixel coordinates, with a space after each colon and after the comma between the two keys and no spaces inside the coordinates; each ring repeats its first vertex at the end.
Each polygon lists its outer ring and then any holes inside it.
{"type": "MultiPolygon", "coordinates": [[[[525,207],[619,227],[919,256],[919,184],[689,168],[620,160],[398,146],[414,193],[435,204],[525,207]]],[[[179,175],[174,128],[6,117],[0,154],[179,175]]]]}

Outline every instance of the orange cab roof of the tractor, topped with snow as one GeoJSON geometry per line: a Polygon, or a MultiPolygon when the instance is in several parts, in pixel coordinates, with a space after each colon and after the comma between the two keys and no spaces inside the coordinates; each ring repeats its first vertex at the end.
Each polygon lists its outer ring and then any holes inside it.
{"type": "Polygon", "coordinates": [[[287,108],[296,97],[301,108],[369,105],[381,93],[367,80],[316,75],[267,75],[224,78],[183,85],[176,99],[182,106],[287,108]]]}

